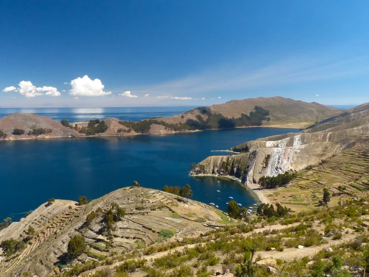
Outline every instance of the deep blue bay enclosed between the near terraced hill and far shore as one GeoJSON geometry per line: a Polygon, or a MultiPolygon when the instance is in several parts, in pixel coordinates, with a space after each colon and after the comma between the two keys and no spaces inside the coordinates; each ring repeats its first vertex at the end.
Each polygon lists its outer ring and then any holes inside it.
{"type": "Polygon", "coordinates": [[[137,180],[146,188],[190,184],[194,200],[226,210],[233,197],[255,199],[237,181],[191,177],[190,165],[256,138],[297,132],[287,128],[238,128],[169,135],[56,138],[0,142],[0,219],[19,220],[50,198],[96,199],[137,180]],[[217,193],[217,190],[220,193],[217,193]]]}

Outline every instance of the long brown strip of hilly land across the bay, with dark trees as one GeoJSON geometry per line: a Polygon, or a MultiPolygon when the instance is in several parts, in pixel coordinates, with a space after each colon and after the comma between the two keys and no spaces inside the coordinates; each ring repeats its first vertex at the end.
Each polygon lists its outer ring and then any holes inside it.
{"type": "Polygon", "coordinates": [[[116,118],[89,122],[57,122],[35,114],[16,113],[0,118],[2,140],[71,136],[114,136],[165,134],[237,127],[305,128],[338,115],[339,109],[282,97],[233,100],[225,104],[199,107],[171,117],[139,122],[116,118]]]}

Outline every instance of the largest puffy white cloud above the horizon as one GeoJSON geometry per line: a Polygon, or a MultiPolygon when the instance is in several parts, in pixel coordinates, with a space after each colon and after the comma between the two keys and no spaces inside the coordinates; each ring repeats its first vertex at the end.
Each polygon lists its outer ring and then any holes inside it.
{"type": "Polygon", "coordinates": [[[101,80],[91,80],[87,75],[78,77],[70,82],[72,89],[69,94],[72,96],[105,96],[111,95],[111,91],[104,91],[101,80]]]}

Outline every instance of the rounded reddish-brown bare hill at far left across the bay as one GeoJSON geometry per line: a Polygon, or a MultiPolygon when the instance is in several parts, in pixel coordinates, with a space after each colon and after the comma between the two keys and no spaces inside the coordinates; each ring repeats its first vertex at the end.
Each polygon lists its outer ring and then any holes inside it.
{"type": "Polygon", "coordinates": [[[0,130],[7,134],[7,139],[82,135],[49,117],[28,113],[15,113],[0,118],[0,130]],[[24,134],[13,135],[15,128],[23,129],[24,134]],[[38,136],[28,135],[28,132],[34,128],[52,129],[52,132],[38,136]]]}

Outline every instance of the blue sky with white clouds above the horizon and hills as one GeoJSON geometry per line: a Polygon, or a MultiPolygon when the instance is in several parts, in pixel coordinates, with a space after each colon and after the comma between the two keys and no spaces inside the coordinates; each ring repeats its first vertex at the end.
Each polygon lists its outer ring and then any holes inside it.
{"type": "Polygon", "coordinates": [[[369,2],[0,0],[0,107],[369,102],[369,2]]]}

